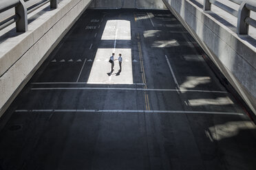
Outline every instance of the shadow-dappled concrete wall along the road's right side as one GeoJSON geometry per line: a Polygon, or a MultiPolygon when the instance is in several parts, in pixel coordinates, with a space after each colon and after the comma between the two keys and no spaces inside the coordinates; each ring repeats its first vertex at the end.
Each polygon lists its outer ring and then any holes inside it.
{"type": "Polygon", "coordinates": [[[187,0],[162,0],[256,114],[256,41],[187,0]]]}

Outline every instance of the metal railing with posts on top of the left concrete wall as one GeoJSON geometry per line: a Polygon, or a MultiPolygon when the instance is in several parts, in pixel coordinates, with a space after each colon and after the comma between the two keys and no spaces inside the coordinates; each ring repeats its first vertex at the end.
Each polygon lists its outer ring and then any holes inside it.
{"type": "Polygon", "coordinates": [[[0,22],[0,29],[7,27],[12,23],[16,23],[17,32],[27,32],[28,31],[28,14],[42,5],[50,1],[50,8],[56,9],[58,5],[58,0],[42,0],[34,5],[30,6],[28,9],[25,6],[25,2],[30,0],[1,0],[0,1],[0,14],[11,8],[15,8],[15,14],[4,19],[0,22]]]}

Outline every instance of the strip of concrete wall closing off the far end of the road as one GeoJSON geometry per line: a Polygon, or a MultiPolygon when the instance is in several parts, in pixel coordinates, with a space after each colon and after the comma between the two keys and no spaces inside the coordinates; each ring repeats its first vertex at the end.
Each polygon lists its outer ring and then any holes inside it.
{"type": "Polygon", "coordinates": [[[166,9],[162,0],[94,0],[89,8],[166,9]]]}

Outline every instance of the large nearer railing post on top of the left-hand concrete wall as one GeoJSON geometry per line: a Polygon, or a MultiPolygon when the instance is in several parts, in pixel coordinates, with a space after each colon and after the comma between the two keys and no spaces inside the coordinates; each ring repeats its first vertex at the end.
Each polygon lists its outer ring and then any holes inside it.
{"type": "Polygon", "coordinates": [[[23,0],[19,1],[19,5],[15,7],[15,14],[19,15],[19,19],[16,21],[17,32],[28,31],[28,12],[23,0]]]}

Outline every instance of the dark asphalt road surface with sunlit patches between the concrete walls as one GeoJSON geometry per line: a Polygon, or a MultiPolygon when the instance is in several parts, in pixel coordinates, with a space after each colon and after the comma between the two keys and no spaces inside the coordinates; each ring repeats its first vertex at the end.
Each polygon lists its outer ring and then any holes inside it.
{"type": "Polygon", "coordinates": [[[0,169],[255,170],[202,54],[168,10],[86,10],[1,118],[0,169]]]}

